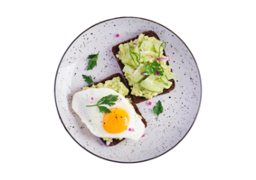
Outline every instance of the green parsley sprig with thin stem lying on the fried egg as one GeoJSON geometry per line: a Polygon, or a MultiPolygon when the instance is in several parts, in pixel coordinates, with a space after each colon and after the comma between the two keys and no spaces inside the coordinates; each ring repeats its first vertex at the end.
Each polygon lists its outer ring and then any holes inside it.
{"type": "Polygon", "coordinates": [[[113,103],[113,102],[116,102],[118,100],[118,97],[119,97],[119,95],[109,94],[109,95],[107,95],[105,97],[102,97],[97,104],[95,104],[95,105],[87,105],[86,107],[98,106],[100,112],[102,112],[102,113],[109,113],[110,110],[107,107],[100,106],[100,105],[101,104],[108,104],[109,106],[114,105],[115,103],[113,103]]]}

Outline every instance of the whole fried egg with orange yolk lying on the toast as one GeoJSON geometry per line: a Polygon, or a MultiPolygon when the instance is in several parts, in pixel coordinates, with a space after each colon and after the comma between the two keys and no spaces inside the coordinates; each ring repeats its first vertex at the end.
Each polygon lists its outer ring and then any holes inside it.
{"type": "Polygon", "coordinates": [[[100,138],[127,138],[138,140],[144,133],[145,125],[133,106],[121,94],[109,88],[89,88],[72,96],[71,107],[92,134],[100,138]],[[97,104],[109,94],[119,95],[114,105],[102,104],[111,112],[102,113],[97,104]],[[92,100],[93,99],[93,100],[92,100]]]}

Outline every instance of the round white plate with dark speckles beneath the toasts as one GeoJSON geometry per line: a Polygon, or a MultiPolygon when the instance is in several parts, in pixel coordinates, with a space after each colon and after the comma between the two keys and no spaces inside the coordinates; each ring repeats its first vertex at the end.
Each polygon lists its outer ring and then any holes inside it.
{"type": "Polygon", "coordinates": [[[141,163],[165,156],[188,136],[203,105],[202,72],[185,40],[165,25],[141,17],[111,18],[81,31],[63,51],[53,82],[55,109],[59,113],[63,129],[89,154],[114,163],[141,163]],[[166,41],[169,64],[178,76],[175,79],[175,89],[169,94],[154,97],[151,106],[146,102],[137,103],[147,120],[145,137],[138,141],[125,139],[117,146],[106,147],[71,110],[71,96],[87,85],[81,75],[90,75],[98,82],[114,73],[122,74],[111,49],[143,31],[155,31],[160,40],[166,41]],[[118,32],[117,38],[115,35],[118,32]],[[98,51],[100,56],[97,67],[87,71],[87,57],[98,51]],[[158,100],[162,102],[164,112],[156,121],[156,114],[152,109],[158,100]]]}

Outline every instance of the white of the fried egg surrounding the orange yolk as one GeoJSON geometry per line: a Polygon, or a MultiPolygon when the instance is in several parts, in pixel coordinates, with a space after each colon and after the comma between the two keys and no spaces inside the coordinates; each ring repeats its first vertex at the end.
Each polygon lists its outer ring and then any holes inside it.
{"type": "Polygon", "coordinates": [[[92,134],[100,138],[127,138],[127,139],[139,139],[145,130],[144,123],[138,118],[137,112],[135,112],[133,106],[128,103],[128,100],[121,94],[109,88],[89,88],[83,91],[79,91],[72,96],[71,107],[74,112],[81,118],[81,121],[85,123],[87,128],[92,134]],[[100,101],[100,99],[109,94],[119,95],[121,101],[115,102],[116,104],[109,106],[107,104],[102,104],[101,106],[106,106],[107,108],[122,108],[128,112],[129,122],[127,130],[120,133],[109,133],[103,128],[103,116],[97,106],[86,107],[86,105],[93,105],[100,101]],[[93,101],[91,102],[91,97],[93,101]],[[129,131],[132,128],[134,131],[129,131]]]}

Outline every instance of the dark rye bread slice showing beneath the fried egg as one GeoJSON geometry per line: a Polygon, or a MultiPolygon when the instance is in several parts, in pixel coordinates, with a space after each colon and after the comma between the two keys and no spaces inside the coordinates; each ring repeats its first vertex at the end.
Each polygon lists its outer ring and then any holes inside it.
{"type": "MultiPolygon", "coordinates": [[[[107,80],[112,80],[114,77],[117,77],[117,76],[119,76],[119,77],[120,77],[120,81],[121,81],[124,85],[126,85],[123,76],[122,76],[121,74],[119,74],[119,73],[116,73],[116,74],[113,74],[113,75],[111,75],[111,76],[108,76],[108,77],[102,79],[101,81],[99,81],[99,82],[97,82],[97,83],[93,83],[93,84],[90,84],[90,85],[88,85],[88,86],[91,87],[92,85],[98,85],[99,83],[103,83],[103,84],[104,84],[105,81],[107,81],[107,80]]],[[[126,86],[127,86],[127,85],[126,85],[126,86]]],[[[126,97],[126,98],[131,98],[129,94],[126,95],[125,97],[126,97]]],[[[147,128],[147,121],[146,121],[145,118],[142,116],[141,112],[139,112],[139,110],[138,110],[138,108],[137,108],[137,105],[136,105],[135,103],[133,103],[133,102],[131,102],[131,104],[133,105],[133,107],[134,107],[134,109],[135,109],[135,112],[137,112],[137,114],[139,114],[139,115],[142,117],[141,121],[144,123],[145,128],[147,128]]],[[[100,138],[100,139],[101,139],[101,138],[100,138]]],[[[124,139],[125,139],[125,138],[124,138],[124,139]]],[[[121,139],[121,140],[119,140],[119,139],[113,139],[113,142],[111,142],[111,143],[109,144],[109,146],[117,145],[117,144],[119,144],[119,142],[123,141],[124,139],[121,139]]],[[[101,141],[106,144],[106,140],[101,139],[101,141]]]]}

